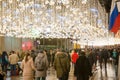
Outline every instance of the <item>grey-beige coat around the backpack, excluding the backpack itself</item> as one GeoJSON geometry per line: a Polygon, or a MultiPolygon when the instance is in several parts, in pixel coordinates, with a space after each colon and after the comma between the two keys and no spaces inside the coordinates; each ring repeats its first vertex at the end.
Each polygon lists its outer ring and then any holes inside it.
{"type": "Polygon", "coordinates": [[[38,56],[35,58],[35,67],[37,66],[38,60],[41,58],[45,62],[45,69],[44,69],[44,71],[36,70],[36,73],[35,73],[36,77],[46,77],[47,76],[48,60],[47,60],[47,56],[45,54],[43,54],[43,53],[38,54],[38,56]]]}

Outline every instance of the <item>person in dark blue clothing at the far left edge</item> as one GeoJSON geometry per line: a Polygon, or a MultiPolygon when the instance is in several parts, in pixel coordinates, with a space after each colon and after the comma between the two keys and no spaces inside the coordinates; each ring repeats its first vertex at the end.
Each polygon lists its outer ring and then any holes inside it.
{"type": "Polygon", "coordinates": [[[2,53],[2,70],[6,73],[7,73],[8,64],[9,64],[8,54],[6,51],[3,51],[3,53],[2,53]]]}

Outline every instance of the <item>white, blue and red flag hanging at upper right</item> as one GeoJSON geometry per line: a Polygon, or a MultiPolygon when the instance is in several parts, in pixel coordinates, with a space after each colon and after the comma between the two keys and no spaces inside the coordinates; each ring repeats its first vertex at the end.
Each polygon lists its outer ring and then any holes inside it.
{"type": "MultiPolygon", "coordinates": [[[[118,4],[115,4],[111,15],[110,15],[110,22],[109,22],[109,30],[114,34],[117,33],[120,27],[120,13],[118,10],[118,4]]],[[[120,4],[119,4],[120,5],[120,4]]]]}

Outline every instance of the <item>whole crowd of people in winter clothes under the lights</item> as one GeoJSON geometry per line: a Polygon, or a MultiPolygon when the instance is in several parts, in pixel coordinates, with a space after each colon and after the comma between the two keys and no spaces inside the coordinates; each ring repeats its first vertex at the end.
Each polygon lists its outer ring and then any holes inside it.
{"type": "Polygon", "coordinates": [[[23,80],[46,80],[47,70],[53,67],[56,71],[56,77],[59,80],[69,80],[69,72],[74,70],[74,76],[77,80],[89,80],[93,75],[93,71],[97,70],[99,64],[102,71],[107,71],[107,63],[114,65],[115,74],[118,75],[119,48],[89,48],[89,49],[73,49],[73,50],[31,50],[18,53],[6,51],[0,53],[0,80],[4,77],[8,70],[11,71],[10,76],[19,75],[22,71],[23,80]],[[18,65],[18,62],[21,65],[18,65]],[[71,65],[72,63],[72,65],[71,65]]]}

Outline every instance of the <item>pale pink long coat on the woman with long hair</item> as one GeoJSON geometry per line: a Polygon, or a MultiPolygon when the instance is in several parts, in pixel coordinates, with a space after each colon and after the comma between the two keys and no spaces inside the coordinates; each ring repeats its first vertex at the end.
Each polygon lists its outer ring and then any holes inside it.
{"type": "Polygon", "coordinates": [[[23,80],[33,80],[35,66],[31,57],[28,58],[27,62],[25,62],[25,59],[22,61],[21,68],[23,69],[23,80]]]}

